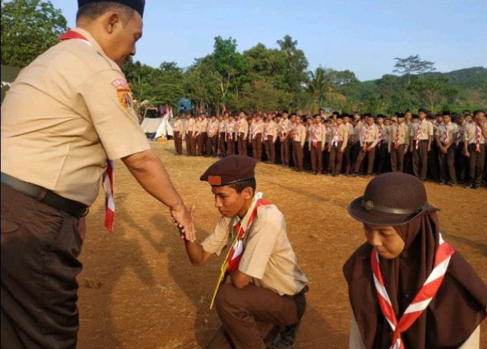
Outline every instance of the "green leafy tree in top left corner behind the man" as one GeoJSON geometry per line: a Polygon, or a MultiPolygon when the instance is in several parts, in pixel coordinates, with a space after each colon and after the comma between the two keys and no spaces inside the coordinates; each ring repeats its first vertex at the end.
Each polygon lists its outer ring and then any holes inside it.
{"type": "Polygon", "coordinates": [[[23,68],[56,44],[68,30],[50,1],[12,0],[1,4],[1,63],[23,68]]]}

